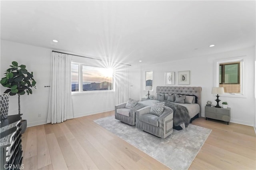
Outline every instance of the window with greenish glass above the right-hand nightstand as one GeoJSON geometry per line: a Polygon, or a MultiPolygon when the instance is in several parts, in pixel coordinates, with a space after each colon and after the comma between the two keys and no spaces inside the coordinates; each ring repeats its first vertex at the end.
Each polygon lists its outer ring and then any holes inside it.
{"type": "Polygon", "coordinates": [[[216,87],[224,87],[226,96],[244,95],[243,57],[216,61],[216,87]]]}

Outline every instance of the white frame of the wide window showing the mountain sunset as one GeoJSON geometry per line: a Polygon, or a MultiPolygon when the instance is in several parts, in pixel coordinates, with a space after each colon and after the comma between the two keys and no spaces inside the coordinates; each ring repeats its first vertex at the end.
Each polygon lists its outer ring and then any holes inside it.
{"type": "MultiPolygon", "coordinates": [[[[70,89],[72,95],[80,95],[80,94],[88,94],[88,93],[102,93],[102,92],[105,93],[105,92],[114,92],[115,91],[114,73],[112,74],[112,87],[113,87],[112,90],[83,91],[83,69],[82,69],[82,67],[83,66],[98,67],[98,68],[106,68],[106,67],[100,67],[100,66],[90,65],[90,64],[76,62],[76,61],[72,61],[71,64],[78,64],[78,91],[72,91],[72,89],[70,89]]],[[[72,77],[70,77],[70,79],[72,79],[72,77]]]]}

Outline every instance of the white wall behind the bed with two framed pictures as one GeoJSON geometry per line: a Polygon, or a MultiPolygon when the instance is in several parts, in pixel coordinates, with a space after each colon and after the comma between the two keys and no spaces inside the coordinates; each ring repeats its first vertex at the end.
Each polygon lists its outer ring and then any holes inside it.
{"type": "MultiPolygon", "coordinates": [[[[229,51],[225,53],[217,53],[214,55],[205,55],[192,59],[182,59],[170,61],[169,63],[158,63],[153,65],[141,66],[141,96],[144,97],[147,93],[143,91],[143,74],[144,71],[154,71],[154,92],[156,93],[156,86],[164,85],[164,72],[175,71],[175,85],[172,86],[200,86],[202,87],[202,106],[206,101],[210,100],[216,104],[216,97],[211,94],[211,89],[214,87],[214,60],[224,59],[231,57],[246,56],[244,62],[245,77],[247,77],[244,85],[247,89],[246,98],[236,97],[220,97],[221,101],[227,101],[228,107],[231,108],[231,122],[240,123],[244,125],[254,125],[255,115],[255,98],[254,98],[254,60],[255,60],[255,47],[240,49],[236,51],[229,51]],[[190,85],[178,85],[177,75],[178,71],[190,70],[190,85]]],[[[202,107],[202,117],[204,117],[204,107],[202,107]]]]}

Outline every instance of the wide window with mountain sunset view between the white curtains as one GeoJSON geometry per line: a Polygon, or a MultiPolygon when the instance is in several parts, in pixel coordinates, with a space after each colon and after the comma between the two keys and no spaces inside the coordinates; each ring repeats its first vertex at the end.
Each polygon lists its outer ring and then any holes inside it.
{"type": "Polygon", "coordinates": [[[82,63],[71,64],[72,92],[113,91],[113,70],[82,63]]]}

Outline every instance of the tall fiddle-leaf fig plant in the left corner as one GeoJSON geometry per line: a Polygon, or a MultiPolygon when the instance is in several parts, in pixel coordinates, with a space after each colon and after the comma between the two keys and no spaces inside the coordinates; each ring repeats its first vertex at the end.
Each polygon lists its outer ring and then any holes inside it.
{"type": "MultiPolygon", "coordinates": [[[[20,114],[20,95],[32,94],[32,87],[36,89],[36,81],[33,72],[28,72],[26,65],[18,65],[16,61],[12,61],[10,68],[6,70],[5,77],[0,81],[1,85],[8,89],[4,93],[10,96],[18,95],[18,111],[20,114]]],[[[27,121],[22,120],[22,133],[25,132],[27,121]]]]}

